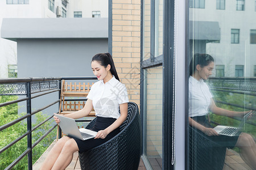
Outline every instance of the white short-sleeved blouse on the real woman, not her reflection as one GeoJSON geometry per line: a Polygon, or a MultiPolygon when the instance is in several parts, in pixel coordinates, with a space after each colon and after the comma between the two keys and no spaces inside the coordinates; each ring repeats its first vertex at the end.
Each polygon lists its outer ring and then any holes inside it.
{"type": "Polygon", "coordinates": [[[119,104],[129,102],[125,84],[115,79],[114,75],[106,83],[103,80],[94,83],[87,98],[92,100],[96,116],[100,117],[118,118],[119,104]]]}

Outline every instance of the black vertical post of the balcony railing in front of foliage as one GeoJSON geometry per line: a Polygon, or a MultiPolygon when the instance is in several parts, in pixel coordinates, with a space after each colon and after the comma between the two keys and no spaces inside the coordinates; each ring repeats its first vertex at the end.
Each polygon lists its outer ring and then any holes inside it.
{"type": "Polygon", "coordinates": [[[31,122],[31,82],[26,83],[27,86],[27,114],[30,114],[27,117],[27,131],[30,133],[27,135],[27,148],[30,149],[28,152],[28,169],[32,170],[32,122],[31,122]]]}

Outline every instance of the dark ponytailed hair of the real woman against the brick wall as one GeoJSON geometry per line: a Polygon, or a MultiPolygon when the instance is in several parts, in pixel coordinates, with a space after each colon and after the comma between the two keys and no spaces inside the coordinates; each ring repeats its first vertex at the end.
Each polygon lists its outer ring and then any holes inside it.
{"type": "Polygon", "coordinates": [[[99,53],[93,56],[92,62],[97,61],[100,63],[101,66],[104,66],[105,68],[110,65],[110,72],[112,75],[115,76],[115,79],[117,79],[119,82],[119,77],[117,75],[117,70],[115,70],[115,65],[112,56],[109,53],[99,53]]]}

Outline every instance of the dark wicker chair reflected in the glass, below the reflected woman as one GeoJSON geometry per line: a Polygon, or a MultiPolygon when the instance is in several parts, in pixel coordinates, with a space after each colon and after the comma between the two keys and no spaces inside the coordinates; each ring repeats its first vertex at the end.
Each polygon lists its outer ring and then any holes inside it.
{"type": "Polygon", "coordinates": [[[211,141],[199,130],[189,126],[189,169],[222,170],[226,147],[211,141]]]}

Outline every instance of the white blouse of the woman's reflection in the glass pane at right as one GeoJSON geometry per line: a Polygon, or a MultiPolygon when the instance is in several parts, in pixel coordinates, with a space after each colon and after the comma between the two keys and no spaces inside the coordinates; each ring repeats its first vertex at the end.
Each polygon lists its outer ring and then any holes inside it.
{"type": "Polygon", "coordinates": [[[210,99],[213,97],[209,87],[203,79],[197,80],[193,76],[189,77],[189,117],[204,116],[209,112],[210,99]]]}

